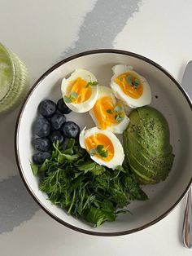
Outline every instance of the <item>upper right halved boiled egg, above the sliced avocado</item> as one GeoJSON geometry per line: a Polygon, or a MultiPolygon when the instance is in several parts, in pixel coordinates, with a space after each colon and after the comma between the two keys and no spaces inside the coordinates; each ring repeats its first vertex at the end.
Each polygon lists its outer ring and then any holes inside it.
{"type": "Polygon", "coordinates": [[[130,108],[151,104],[151,88],[146,78],[133,71],[133,67],[118,64],[112,68],[111,89],[116,98],[130,108]]]}

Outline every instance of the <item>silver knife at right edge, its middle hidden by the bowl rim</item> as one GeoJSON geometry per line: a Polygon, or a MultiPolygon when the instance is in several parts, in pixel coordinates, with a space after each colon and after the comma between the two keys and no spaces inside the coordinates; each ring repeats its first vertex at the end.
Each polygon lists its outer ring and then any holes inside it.
{"type": "MultiPolygon", "coordinates": [[[[185,73],[182,79],[182,86],[188,95],[192,99],[192,60],[187,64],[185,68],[185,73]]],[[[190,188],[187,193],[186,205],[185,205],[185,214],[183,220],[183,243],[185,247],[192,247],[192,201],[191,201],[191,192],[190,188]]]]}

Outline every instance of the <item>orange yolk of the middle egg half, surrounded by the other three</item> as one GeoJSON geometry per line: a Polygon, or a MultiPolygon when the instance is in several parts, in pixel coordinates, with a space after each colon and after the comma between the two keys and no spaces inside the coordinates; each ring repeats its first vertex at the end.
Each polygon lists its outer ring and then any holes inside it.
{"type": "Polygon", "coordinates": [[[101,130],[106,130],[107,126],[117,124],[118,121],[116,121],[116,117],[118,114],[124,117],[124,113],[116,113],[116,111],[114,111],[115,107],[115,104],[113,104],[109,96],[98,99],[96,104],[94,104],[94,117],[97,119],[98,126],[101,130]]]}

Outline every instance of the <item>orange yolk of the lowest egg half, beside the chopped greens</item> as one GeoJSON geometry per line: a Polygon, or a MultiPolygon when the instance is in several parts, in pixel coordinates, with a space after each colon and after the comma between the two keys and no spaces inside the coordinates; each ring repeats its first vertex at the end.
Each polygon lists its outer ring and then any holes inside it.
{"type": "Polygon", "coordinates": [[[99,153],[96,153],[94,157],[98,157],[103,161],[110,161],[114,157],[114,147],[111,143],[111,139],[109,139],[106,135],[103,134],[94,134],[85,139],[85,147],[88,152],[92,148],[97,148],[98,145],[103,145],[103,150],[108,152],[107,157],[101,157],[99,153]]]}

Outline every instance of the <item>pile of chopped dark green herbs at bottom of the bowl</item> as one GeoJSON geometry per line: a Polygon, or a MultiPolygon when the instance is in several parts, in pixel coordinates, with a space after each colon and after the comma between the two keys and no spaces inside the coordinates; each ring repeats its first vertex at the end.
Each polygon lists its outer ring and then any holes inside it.
{"type": "MultiPolygon", "coordinates": [[[[107,152],[98,146],[97,152],[107,152]]],[[[65,148],[54,143],[51,158],[31,167],[40,175],[40,190],[53,204],[94,227],[129,212],[123,209],[129,201],[147,199],[127,166],[99,166],[75,139],[69,139],[65,148]]]]}

